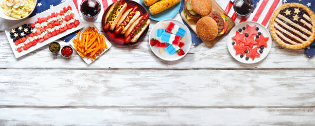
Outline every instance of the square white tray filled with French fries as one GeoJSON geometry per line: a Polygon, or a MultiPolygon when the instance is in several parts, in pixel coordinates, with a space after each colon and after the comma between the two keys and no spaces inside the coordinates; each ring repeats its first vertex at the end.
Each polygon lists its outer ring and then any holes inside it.
{"type": "Polygon", "coordinates": [[[86,64],[91,64],[112,47],[109,40],[94,25],[80,31],[70,40],[70,45],[86,64]]]}

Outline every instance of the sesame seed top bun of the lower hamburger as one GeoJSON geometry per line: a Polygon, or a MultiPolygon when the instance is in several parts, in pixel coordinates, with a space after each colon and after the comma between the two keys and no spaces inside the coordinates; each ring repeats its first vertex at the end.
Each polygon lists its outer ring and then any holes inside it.
{"type": "Polygon", "coordinates": [[[216,21],[208,16],[200,18],[197,22],[197,34],[202,40],[212,40],[218,34],[218,25],[216,21]]]}

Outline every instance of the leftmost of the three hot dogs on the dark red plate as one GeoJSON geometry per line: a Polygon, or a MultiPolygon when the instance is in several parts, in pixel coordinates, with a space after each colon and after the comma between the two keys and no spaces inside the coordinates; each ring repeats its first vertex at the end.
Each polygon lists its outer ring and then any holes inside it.
{"type": "Polygon", "coordinates": [[[113,31],[115,29],[118,20],[120,19],[122,13],[126,10],[126,8],[127,3],[125,2],[125,0],[117,1],[111,6],[104,20],[105,31],[113,31]]]}

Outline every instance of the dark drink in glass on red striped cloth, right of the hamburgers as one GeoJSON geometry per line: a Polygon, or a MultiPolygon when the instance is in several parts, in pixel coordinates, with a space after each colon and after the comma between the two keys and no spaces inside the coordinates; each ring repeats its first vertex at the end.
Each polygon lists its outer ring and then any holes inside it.
{"type": "Polygon", "coordinates": [[[254,4],[252,0],[236,0],[233,8],[238,18],[247,19],[253,12],[254,4]]]}

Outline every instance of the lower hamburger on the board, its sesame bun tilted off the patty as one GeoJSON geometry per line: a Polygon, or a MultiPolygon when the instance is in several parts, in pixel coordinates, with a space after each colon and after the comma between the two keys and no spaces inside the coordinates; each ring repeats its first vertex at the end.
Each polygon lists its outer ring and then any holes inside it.
{"type": "Polygon", "coordinates": [[[200,18],[196,25],[198,36],[202,40],[213,40],[225,34],[225,31],[228,29],[226,20],[228,20],[228,17],[225,14],[216,11],[200,18]]]}

